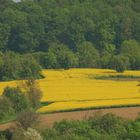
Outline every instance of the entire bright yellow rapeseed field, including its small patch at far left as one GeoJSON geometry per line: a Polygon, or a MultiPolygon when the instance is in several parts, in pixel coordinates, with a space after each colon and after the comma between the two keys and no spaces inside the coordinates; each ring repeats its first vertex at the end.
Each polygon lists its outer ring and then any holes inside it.
{"type": "MultiPolygon", "coordinates": [[[[43,70],[44,79],[38,80],[43,92],[42,101],[53,102],[39,112],[77,108],[140,104],[140,87],[136,81],[96,80],[94,76],[118,75],[108,69],[43,70]]],[[[123,75],[140,76],[140,71],[126,71],[123,75]]],[[[120,74],[119,74],[120,75],[120,74]]],[[[19,81],[0,82],[0,93],[7,85],[19,81]]]]}

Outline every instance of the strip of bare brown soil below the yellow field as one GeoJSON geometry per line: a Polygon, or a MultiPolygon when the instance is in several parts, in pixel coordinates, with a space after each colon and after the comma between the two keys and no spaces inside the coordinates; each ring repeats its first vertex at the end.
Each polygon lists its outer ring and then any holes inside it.
{"type": "MultiPolygon", "coordinates": [[[[63,112],[63,113],[40,115],[40,126],[42,128],[46,128],[46,127],[50,128],[53,126],[55,122],[59,122],[63,119],[82,120],[82,119],[93,116],[96,112],[99,112],[99,111],[102,114],[113,113],[127,119],[135,119],[140,112],[140,107],[98,109],[98,110],[63,112]]],[[[14,122],[0,125],[0,130],[5,130],[9,127],[12,127],[13,125],[14,125],[14,122]]]]}

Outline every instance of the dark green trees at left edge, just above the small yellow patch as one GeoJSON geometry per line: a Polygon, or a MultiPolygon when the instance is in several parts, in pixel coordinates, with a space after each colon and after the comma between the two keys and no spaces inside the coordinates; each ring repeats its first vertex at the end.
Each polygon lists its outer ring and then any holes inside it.
{"type": "Polygon", "coordinates": [[[41,78],[41,67],[31,55],[7,52],[0,56],[0,80],[41,78]]]}

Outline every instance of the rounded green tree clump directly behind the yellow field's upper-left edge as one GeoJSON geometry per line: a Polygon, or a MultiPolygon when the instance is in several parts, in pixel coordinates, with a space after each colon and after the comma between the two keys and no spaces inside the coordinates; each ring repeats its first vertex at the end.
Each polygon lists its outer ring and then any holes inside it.
{"type": "Polygon", "coordinates": [[[78,58],[64,44],[51,44],[48,52],[33,53],[43,68],[72,68],[78,66],[78,58]]]}

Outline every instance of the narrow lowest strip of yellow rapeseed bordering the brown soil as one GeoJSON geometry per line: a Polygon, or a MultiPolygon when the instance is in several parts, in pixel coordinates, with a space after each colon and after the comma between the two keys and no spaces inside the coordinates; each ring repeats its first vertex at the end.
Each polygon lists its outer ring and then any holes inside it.
{"type": "Polygon", "coordinates": [[[55,102],[49,106],[40,108],[39,112],[54,112],[54,111],[66,111],[74,109],[86,109],[86,108],[101,108],[109,106],[123,106],[123,105],[137,105],[140,104],[140,99],[120,99],[120,100],[98,100],[98,101],[68,101],[68,102],[55,102]]]}

